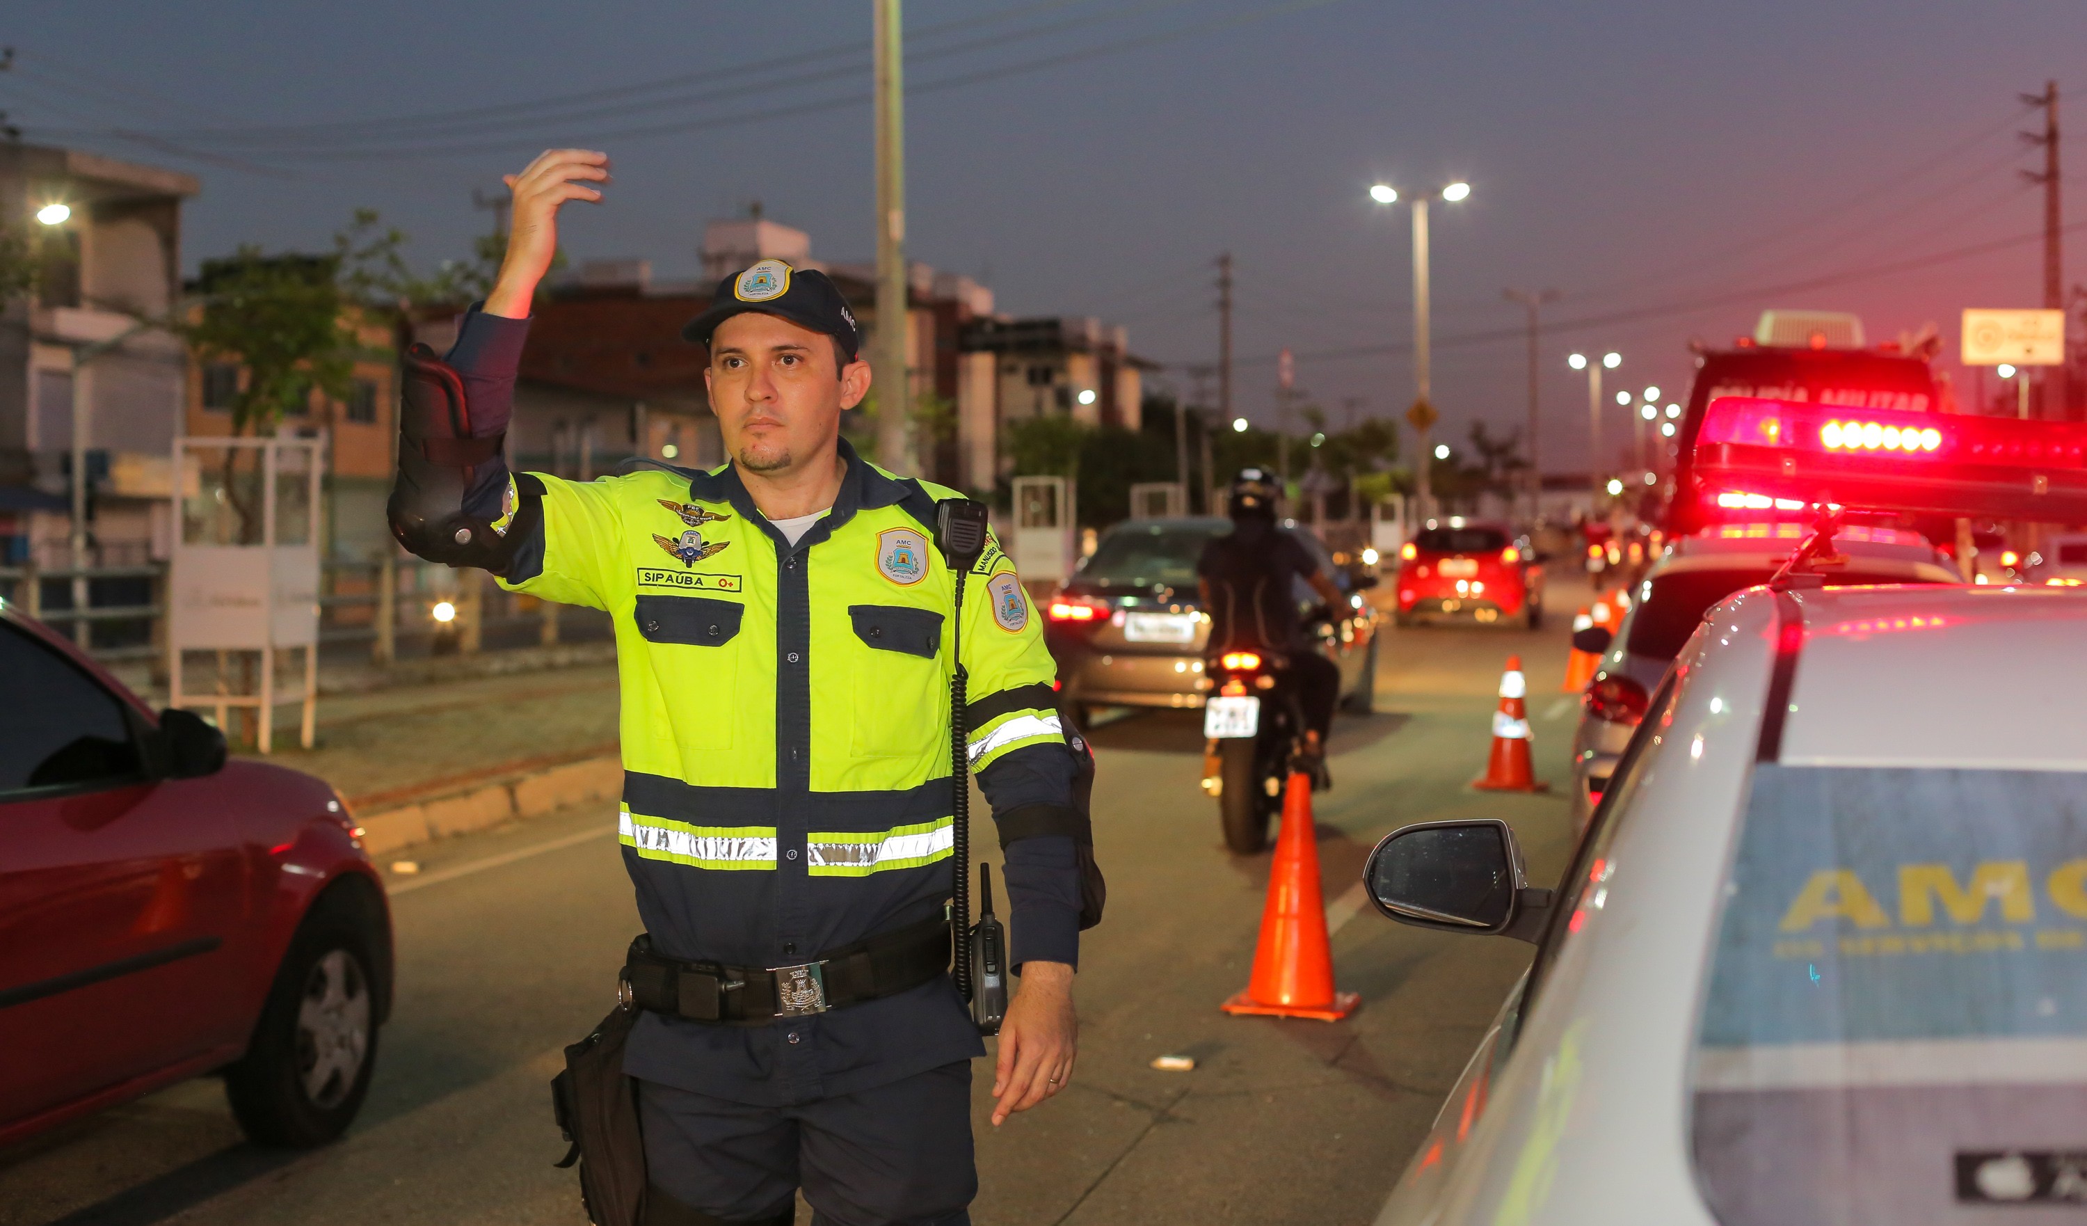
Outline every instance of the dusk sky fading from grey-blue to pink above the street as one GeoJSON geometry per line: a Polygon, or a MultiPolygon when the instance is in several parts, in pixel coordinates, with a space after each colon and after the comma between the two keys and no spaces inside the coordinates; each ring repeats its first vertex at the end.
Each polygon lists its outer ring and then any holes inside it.
{"type": "MultiPolygon", "coordinates": [[[[1549,468],[1586,464],[1580,347],[1678,393],[1690,336],[1814,307],[1872,343],[1933,322],[1953,368],[1960,309],[2041,305],[2018,173],[2041,150],[2016,138],[2041,117],[2016,96],[2056,77],[2087,132],[2087,6],[2060,0],[914,0],[906,23],[908,255],[1014,315],[1125,324],[1185,388],[1229,249],[1238,407],[1263,422],[1284,345],[1336,420],[1405,409],[1409,213],[1367,188],[1469,180],[1434,209],[1438,439],[1524,420],[1501,292],[1557,288],[1549,468]]],[[[432,265],[486,228],[474,190],[586,144],[616,186],[568,209],[572,259],[687,278],[703,221],[755,198],[814,255],[870,259],[868,40],[866,0],[23,4],[0,109],[27,140],[200,175],[190,267],[321,249],[357,205],[432,265]]],[[[2087,142],[2066,159],[2081,223],[2087,142]]],[[[2070,286],[2087,230],[2066,242],[2070,286]]]]}

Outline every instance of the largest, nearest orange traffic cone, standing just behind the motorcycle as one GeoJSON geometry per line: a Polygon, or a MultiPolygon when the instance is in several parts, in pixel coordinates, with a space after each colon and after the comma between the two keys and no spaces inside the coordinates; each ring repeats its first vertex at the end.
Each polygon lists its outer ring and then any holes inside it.
{"type": "Polygon", "coordinates": [[[1319,840],[1311,823],[1311,775],[1294,771],[1284,792],[1284,829],[1269,865],[1269,902],[1261,911],[1254,977],[1225,1000],[1225,1013],[1317,1017],[1340,1021],[1363,1003],[1361,992],[1334,990],[1334,948],[1319,894],[1319,840]]]}

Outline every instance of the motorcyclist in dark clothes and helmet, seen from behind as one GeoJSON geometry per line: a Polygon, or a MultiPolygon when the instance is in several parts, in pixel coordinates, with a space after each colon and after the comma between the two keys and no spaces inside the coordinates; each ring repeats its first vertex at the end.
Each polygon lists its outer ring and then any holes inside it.
{"type": "Polygon", "coordinates": [[[1263,468],[1242,468],[1227,491],[1231,533],[1213,539],[1196,562],[1202,608],[1210,614],[1210,652],[1261,647],[1286,658],[1288,683],[1304,710],[1304,767],[1327,785],[1325,737],[1340,700],[1340,668],[1304,635],[1296,581],[1311,585],[1327,610],[1344,595],[1319,560],[1275,526],[1281,487],[1263,468]]]}

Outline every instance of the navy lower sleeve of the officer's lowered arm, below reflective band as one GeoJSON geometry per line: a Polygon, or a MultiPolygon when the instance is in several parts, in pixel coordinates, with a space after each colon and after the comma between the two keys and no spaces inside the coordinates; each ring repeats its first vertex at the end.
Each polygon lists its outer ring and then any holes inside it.
{"type": "MultiPolygon", "coordinates": [[[[1054,716],[1056,718],[1056,716],[1054,716]]],[[[1029,806],[1073,808],[1073,758],[1062,744],[1033,744],[979,771],[995,817],[1029,806]]],[[[1008,963],[1079,965],[1079,860],[1069,835],[1002,844],[1008,888],[1008,963]]]]}

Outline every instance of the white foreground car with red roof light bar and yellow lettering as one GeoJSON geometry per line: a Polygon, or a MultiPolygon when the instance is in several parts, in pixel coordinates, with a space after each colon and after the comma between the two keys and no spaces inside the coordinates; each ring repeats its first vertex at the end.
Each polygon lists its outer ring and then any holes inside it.
{"type": "Polygon", "coordinates": [[[1812,528],[1563,877],[1490,819],[1369,856],[1390,919],[1536,946],[1377,1224],[2079,1220],[2087,591],[1824,576],[1855,508],[2087,522],[2087,426],[1720,397],[1693,466],[1812,528]]]}

